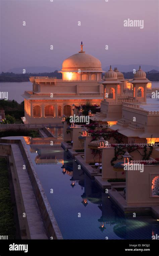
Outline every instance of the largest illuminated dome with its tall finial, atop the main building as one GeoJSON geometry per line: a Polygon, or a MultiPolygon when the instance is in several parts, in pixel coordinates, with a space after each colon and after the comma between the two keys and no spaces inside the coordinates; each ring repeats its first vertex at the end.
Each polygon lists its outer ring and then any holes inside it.
{"type": "Polygon", "coordinates": [[[81,51],[71,55],[67,59],[65,59],[62,63],[62,71],[71,72],[78,71],[81,69],[82,71],[90,70],[90,72],[102,72],[102,64],[100,60],[95,58],[92,55],[86,54],[83,51],[83,43],[81,42],[81,51]]]}

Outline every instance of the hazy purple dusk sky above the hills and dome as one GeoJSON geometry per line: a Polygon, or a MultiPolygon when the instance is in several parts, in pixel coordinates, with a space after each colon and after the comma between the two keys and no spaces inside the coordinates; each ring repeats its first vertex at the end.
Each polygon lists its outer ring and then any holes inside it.
{"type": "MultiPolygon", "coordinates": [[[[157,0],[0,0],[1,67],[60,67],[84,51],[110,64],[158,66],[157,0]],[[124,27],[144,20],[144,29],[124,27]],[[26,26],[22,26],[22,22],[26,26]],[[81,21],[81,26],[78,26],[81,21]],[[50,50],[53,44],[54,50],[50,50]],[[105,45],[109,50],[105,50],[105,45]]],[[[54,70],[53,70],[54,71],[54,70]]]]}

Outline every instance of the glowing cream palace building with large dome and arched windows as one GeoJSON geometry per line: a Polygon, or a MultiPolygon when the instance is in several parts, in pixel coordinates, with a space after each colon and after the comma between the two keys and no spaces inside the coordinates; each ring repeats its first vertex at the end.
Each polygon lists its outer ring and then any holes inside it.
{"type": "MultiPolygon", "coordinates": [[[[33,91],[25,91],[25,123],[60,122],[62,116],[73,114],[72,105],[90,101],[100,105],[103,98],[101,62],[83,51],[63,61],[62,79],[30,77],[33,91]]],[[[23,120],[23,118],[22,118],[23,120]]]]}

